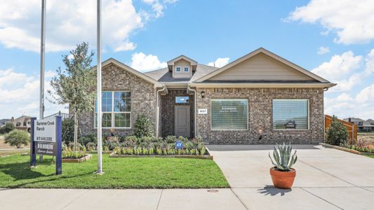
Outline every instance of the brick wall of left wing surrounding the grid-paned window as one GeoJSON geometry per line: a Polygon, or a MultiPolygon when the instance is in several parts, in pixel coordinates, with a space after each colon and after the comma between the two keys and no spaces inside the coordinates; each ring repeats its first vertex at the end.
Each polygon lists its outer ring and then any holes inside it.
{"type": "MultiPolygon", "coordinates": [[[[134,133],[135,120],[141,113],[151,120],[156,130],[156,90],[152,83],[133,73],[121,69],[115,64],[109,64],[102,69],[102,91],[130,90],[131,91],[131,128],[114,129],[114,134],[126,136],[134,133]]],[[[79,115],[79,127],[83,135],[96,134],[93,125],[94,113],[86,112],[79,115]]],[[[103,135],[109,135],[108,128],[102,129],[103,135]]]]}

